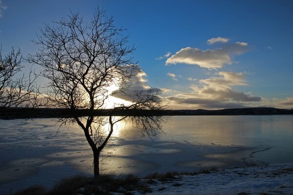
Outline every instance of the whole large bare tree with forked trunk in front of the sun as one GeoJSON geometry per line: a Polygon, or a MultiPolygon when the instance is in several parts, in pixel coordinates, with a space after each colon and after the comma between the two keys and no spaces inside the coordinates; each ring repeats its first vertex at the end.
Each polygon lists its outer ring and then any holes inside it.
{"type": "Polygon", "coordinates": [[[89,116],[60,119],[63,124],[77,123],[84,131],[85,138],[93,151],[94,175],[99,176],[99,157],[112,133],[113,125],[121,120],[131,120],[141,126],[146,135],[156,135],[162,130],[163,117],[139,116],[113,117],[119,110],[162,109],[160,93],[152,89],[128,94],[129,81],[140,68],[129,57],[134,46],[128,46],[128,36],[121,33],[113,18],[107,18],[104,10],[96,10],[89,23],[79,13],[54,21],[54,26],[45,25],[41,35],[34,42],[39,52],[28,60],[44,68],[43,76],[48,78],[47,98],[51,106],[71,109],[88,109],[89,116]],[[117,90],[111,90],[117,86],[117,90]],[[94,116],[95,109],[105,109],[106,100],[113,94],[121,93],[132,97],[129,104],[115,104],[108,117],[110,129],[103,132],[105,121],[94,116]],[[69,121],[68,121],[69,120],[69,121]]]}

